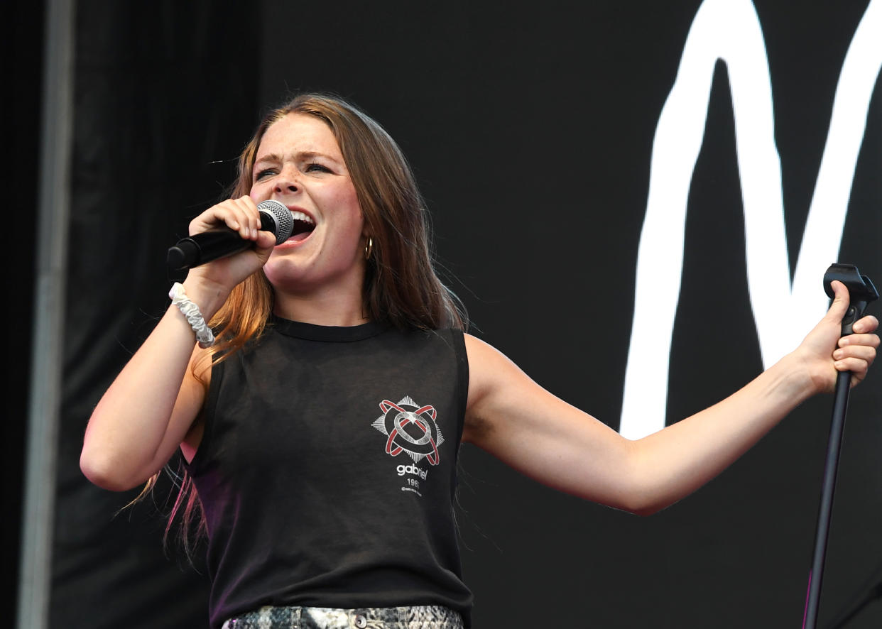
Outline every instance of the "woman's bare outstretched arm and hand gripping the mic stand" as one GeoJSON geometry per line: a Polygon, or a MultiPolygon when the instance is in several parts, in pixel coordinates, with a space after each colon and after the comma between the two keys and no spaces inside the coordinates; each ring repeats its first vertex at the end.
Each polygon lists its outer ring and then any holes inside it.
{"type": "Polygon", "coordinates": [[[840,338],[848,290],[833,282],[826,316],[798,348],[725,400],[635,441],[558,399],[486,343],[466,336],[468,403],[463,441],[535,480],[632,513],[655,513],[718,475],[791,410],[831,392],[838,371],[852,385],[878,348],[878,320],[840,338]]]}

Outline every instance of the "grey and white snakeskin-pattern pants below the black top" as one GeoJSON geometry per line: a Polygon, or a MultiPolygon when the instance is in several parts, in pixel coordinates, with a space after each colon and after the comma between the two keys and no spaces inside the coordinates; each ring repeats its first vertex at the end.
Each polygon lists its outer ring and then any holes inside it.
{"type": "Polygon", "coordinates": [[[437,605],[336,610],[262,607],[230,618],[222,629],[462,629],[456,611],[437,605]]]}

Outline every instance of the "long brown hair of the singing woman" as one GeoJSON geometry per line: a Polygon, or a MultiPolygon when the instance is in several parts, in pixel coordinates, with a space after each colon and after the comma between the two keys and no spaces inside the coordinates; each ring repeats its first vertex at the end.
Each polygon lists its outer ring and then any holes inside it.
{"type": "MultiPolygon", "coordinates": [[[[251,170],[260,141],[270,126],[289,114],[314,116],[325,122],[340,152],[362,207],[365,233],[373,240],[363,288],[363,311],[373,321],[401,329],[465,330],[467,317],[460,300],[438,278],[431,252],[430,218],[413,172],[389,134],[354,105],[330,94],[300,94],[270,111],[244,147],[238,177],[229,197],[251,189],[251,170]]],[[[206,382],[207,360],[218,363],[263,332],[273,310],[273,288],[263,271],[236,286],[209,325],[217,341],[193,375],[206,382]]],[[[148,481],[145,491],[155,483],[148,481]]],[[[168,535],[176,513],[182,513],[184,550],[191,550],[194,526],[205,532],[205,515],[190,475],[183,471],[180,491],[168,518],[168,535]]]]}

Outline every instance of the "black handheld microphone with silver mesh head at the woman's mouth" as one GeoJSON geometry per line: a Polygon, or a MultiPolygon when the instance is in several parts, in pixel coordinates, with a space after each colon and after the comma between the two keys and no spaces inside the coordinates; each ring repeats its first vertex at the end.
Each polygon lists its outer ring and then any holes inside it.
{"type": "MultiPolygon", "coordinates": [[[[284,204],[268,199],[258,205],[258,211],[261,230],[272,232],[276,244],[284,243],[291,237],[294,218],[284,204]]],[[[169,271],[183,271],[238,253],[252,244],[252,241],[245,240],[232,229],[212,229],[177,241],[168,250],[166,263],[169,271]]]]}

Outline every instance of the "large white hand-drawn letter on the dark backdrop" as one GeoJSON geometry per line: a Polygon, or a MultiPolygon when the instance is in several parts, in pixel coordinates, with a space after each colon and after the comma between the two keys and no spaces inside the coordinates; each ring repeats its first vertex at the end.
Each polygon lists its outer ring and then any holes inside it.
{"type": "Polygon", "coordinates": [[[768,367],[796,348],[826,309],[820,282],[839,255],[857,155],[882,68],[880,42],[882,0],[871,0],[842,64],[791,284],[781,161],[774,143],[772,86],[759,17],[750,0],[706,0],[699,7],[655,131],[619,427],[624,437],[644,437],[665,425],[686,204],[704,139],[714,65],[722,60],[729,71],[747,285],[763,365],[768,367]],[[782,320],[788,321],[783,329],[782,320]]]}

